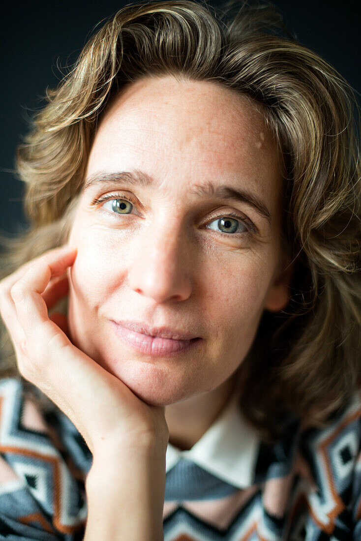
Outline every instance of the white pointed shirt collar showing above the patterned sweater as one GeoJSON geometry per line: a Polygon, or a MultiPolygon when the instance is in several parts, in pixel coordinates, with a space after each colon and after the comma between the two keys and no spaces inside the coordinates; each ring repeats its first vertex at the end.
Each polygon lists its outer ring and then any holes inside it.
{"type": "Polygon", "coordinates": [[[244,489],[253,484],[259,445],[259,433],[241,414],[237,393],[191,449],[181,451],[168,443],[166,472],[181,459],[192,460],[226,483],[244,489]]]}

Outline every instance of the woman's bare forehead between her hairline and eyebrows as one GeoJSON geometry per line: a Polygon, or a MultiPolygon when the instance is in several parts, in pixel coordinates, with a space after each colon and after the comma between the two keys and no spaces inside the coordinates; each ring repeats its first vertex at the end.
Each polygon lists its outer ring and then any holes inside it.
{"type": "Polygon", "coordinates": [[[146,170],[159,182],[171,175],[183,184],[221,174],[270,195],[279,177],[261,105],[220,83],[171,76],[127,85],[102,117],[88,174],[126,169],[146,170]]]}

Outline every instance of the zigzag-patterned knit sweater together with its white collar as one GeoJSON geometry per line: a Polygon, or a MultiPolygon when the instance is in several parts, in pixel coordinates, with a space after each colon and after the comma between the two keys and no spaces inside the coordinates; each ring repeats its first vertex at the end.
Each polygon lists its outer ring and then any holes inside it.
{"type": "MultiPolygon", "coordinates": [[[[266,445],[231,399],[191,450],[168,444],[165,541],[361,541],[361,395],[330,421],[290,417],[266,445]]],[[[0,453],[0,540],[83,539],[91,453],[13,378],[0,380],[0,453]]]]}

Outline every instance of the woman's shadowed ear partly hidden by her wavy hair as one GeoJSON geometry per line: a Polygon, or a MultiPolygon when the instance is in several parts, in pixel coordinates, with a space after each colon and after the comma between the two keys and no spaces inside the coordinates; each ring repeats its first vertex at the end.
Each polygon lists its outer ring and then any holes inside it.
{"type": "Polygon", "coordinates": [[[279,312],[286,308],[290,298],[290,285],[294,269],[294,262],[290,255],[281,256],[279,270],[268,289],[265,310],[279,312]]]}

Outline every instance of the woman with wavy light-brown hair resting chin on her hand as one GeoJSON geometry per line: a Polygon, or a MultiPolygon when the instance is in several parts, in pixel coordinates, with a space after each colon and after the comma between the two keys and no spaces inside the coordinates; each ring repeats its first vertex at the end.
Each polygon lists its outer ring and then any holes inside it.
{"type": "Polygon", "coordinates": [[[356,101],[228,15],[127,5],[18,150],[0,539],[361,538],[356,101]]]}

